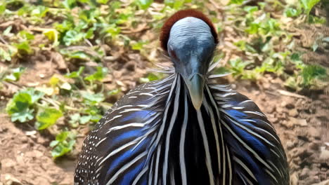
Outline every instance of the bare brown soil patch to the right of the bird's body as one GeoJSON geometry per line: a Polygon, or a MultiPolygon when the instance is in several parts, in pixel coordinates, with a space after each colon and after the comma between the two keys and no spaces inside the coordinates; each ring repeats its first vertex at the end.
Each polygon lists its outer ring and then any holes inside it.
{"type": "Polygon", "coordinates": [[[290,184],[329,184],[329,96],[297,95],[280,84],[280,79],[267,76],[259,85],[245,81],[236,86],[276,128],[288,156],[290,184]]]}

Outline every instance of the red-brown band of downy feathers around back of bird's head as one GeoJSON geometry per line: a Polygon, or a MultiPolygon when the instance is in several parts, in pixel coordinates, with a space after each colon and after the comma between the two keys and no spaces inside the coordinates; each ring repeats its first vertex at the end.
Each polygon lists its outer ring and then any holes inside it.
{"type": "Polygon", "coordinates": [[[167,50],[170,29],[172,29],[172,26],[175,24],[175,22],[187,17],[198,18],[200,20],[205,21],[212,31],[212,36],[214,36],[215,43],[218,43],[217,32],[216,29],[214,28],[214,25],[212,24],[212,21],[209,20],[209,18],[207,18],[207,16],[201,13],[200,11],[196,11],[194,9],[188,9],[174,13],[174,15],[172,15],[166,22],[164,22],[164,25],[162,26],[160,33],[160,43],[161,43],[161,48],[163,50],[167,50]]]}

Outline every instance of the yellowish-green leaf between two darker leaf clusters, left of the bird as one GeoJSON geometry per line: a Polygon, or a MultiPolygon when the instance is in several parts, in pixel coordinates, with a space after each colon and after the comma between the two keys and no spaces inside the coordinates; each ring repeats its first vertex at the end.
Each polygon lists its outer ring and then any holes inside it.
{"type": "Polygon", "coordinates": [[[62,116],[63,113],[60,110],[53,108],[44,109],[44,111],[39,112],[37,115],[36,127],[38,130],[49,128],[49,126],[55,124],[58,118],[62,116]]]}

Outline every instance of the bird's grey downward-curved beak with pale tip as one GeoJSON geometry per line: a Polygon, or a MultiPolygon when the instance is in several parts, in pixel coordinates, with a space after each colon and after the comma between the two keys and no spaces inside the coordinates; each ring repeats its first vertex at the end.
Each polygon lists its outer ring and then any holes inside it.
{"type": "Polygon", "coordinates": [[[199,110],[203,101],[203,87],[205,79],[201,74],[192,74],[191,78],[183,78],[190,93],[193,107],[199,110]]]}

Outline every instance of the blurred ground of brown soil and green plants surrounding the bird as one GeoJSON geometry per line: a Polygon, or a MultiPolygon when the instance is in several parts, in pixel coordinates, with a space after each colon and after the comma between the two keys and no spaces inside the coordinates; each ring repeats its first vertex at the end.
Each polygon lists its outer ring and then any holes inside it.
{"type": "Polygon", "coordinates": [[[329,184],[329,1],[1,0],[0,184],[73,184],[86,134],[168,62],[164,20],[214,22],[220,83],[254,100],[280,136],[291,184],[329,184]]]}

